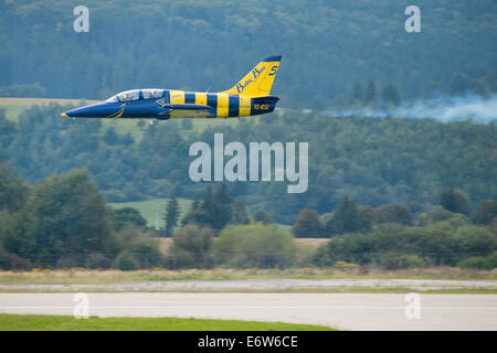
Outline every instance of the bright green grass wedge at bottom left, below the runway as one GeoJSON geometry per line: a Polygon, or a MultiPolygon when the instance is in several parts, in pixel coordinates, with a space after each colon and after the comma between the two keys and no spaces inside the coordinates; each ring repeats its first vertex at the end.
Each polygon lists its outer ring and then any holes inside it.
{"type": "Polygon", "coordinates": [[[0,331],[335,331],[284,322],[177,318],[95,318],[0,314],[0,331]]]}

